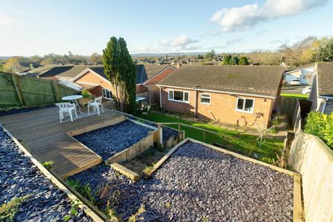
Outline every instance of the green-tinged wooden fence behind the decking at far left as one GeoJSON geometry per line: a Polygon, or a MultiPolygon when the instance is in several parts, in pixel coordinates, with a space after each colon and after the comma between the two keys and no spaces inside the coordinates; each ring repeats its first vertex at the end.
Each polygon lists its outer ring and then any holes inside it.
{"type": "Polygon", "coordinates": [[[53,80],[0,73],[0,105],[46,105],[73,94],[78,92],[53,80]]]}

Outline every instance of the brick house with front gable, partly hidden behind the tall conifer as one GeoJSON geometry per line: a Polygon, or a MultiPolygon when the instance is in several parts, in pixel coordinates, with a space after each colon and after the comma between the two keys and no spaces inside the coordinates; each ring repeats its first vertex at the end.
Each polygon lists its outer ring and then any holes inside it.
{"type": "MultiPolygon", "coordinates": [[[[142,92],[142,83],[147,79],[144,65],[135,65],[136,67],[136,93],[142,92]]],[[[75,89],[87,89],[94,96],[103,96],[104,99],[112,99],[116,96],[116,91],[104,74],[103,66],[101,65],[62,65],[49,66],[44,69],[40,67],[37,70],[38,78],[46,78],[57,80],[63,85],[75,89]]]]}

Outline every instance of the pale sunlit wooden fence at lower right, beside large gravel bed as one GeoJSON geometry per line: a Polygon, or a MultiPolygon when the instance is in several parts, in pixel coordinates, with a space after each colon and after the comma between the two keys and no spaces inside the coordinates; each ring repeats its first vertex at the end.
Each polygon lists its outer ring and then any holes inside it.
{"type": "Polygon", "coordinates": [[[333,151],[318,137],[299,133],[288,164],[302,175],[305,221],[333,221],[333,151]]]}

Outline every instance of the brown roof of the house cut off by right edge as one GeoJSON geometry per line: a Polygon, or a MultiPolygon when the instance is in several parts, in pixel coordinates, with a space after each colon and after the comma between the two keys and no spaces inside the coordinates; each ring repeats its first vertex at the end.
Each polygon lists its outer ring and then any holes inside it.
{"type": "Polygon", "coordinates": [[[333,62],[317,63],[318,95],[333,96],[333,62]]]}

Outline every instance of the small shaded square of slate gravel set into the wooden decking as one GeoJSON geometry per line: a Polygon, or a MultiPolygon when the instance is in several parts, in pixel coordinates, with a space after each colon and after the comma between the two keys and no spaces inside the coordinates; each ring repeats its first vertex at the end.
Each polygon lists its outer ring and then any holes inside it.
{"type": "Polygon", "coordinates": [[[103,160],[108,160],[112,155],[144,139],[149,130],[152,129],[126,120],[112,126],[80,134],[75,138],[100,155],[103,160]]]}

